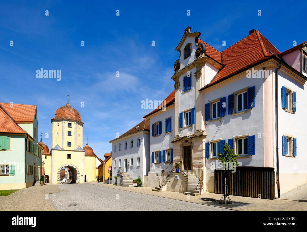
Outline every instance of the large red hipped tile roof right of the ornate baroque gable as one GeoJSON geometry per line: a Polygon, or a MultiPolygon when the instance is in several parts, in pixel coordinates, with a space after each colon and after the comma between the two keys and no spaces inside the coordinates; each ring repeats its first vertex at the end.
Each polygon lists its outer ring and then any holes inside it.
{"type": "MultiPolygon", "coordinates": [[[[206,52],[207,53],[207,52],[206,52]]],[[[258,30],[222,51],[223,67],[213,80],[202,89],[211,86],[246,67],[256,64],[270,56],[279,54],[258,30]]],[[[209,54],[208,54],[209,55],[209,54]]]]}

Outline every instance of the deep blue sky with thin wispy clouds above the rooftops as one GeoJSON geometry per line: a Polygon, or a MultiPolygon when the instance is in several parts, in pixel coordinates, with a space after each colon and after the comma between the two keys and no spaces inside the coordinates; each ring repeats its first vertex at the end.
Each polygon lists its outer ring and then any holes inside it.
{"type": "Polygon", "coordinates": [[[89,137],[103,158],[116,133],[151,111],[141,109],[142,100],[163,100],[173,91],[175,48],[187,26],[219,51],[251,29],[284,51],[293,40],[307,40],[303,6],[304,1],[2,2],[0,102],[37,105],[38,133],[49,133],[43,142],[51,149],[50,121],[69,94],[84,122],[83,144],[89,137]],[[62,70],[62,80],[37,79],[41,68],[62,70]]]}

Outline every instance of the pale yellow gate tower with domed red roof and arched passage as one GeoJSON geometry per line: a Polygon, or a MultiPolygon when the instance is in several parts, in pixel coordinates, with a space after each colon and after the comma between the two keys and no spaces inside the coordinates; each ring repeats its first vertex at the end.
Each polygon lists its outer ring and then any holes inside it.
{"type": "MultiPolygon", "coordinates": [[[[71,183],[96,181],[96,159],[98,158],[88,145],[82,148],[84,123],[80,113],[67,101],[65,106],[56,110],[51,123],[52,149],[50,155],[43,154],[45,176],[49,177],[49,183],[61,184],[60,171],[65,167],[72,171],[71,183]]],[[[48,147],[45,149],[47,150],[48,147]]]]}

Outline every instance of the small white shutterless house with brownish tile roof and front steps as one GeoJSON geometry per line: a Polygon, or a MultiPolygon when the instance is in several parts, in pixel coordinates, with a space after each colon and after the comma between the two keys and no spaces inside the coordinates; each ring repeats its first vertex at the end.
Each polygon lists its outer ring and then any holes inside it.
{"type": "Polygon", "coordinates": [[[144,119],[135,127],[126,131],[112,143],[112,183],[117,172],[129,175],[132,180],[141,178],[142,186],[146,185],[149,172],[149,126],[150,120],[144,119]],[[145,176],[145,178],[144,178],[145,176]]]}

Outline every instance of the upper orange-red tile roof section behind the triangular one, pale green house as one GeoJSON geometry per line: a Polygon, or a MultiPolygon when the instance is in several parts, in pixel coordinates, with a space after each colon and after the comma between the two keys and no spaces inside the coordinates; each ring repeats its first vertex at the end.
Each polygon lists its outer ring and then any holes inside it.
{"type": "Polygon", "coordinates": [[[33,122],[36,105],[2,103],[2,107],[16,122],[33,122]],[[13,107],[11,107],[13,106],[13,107]]]}

